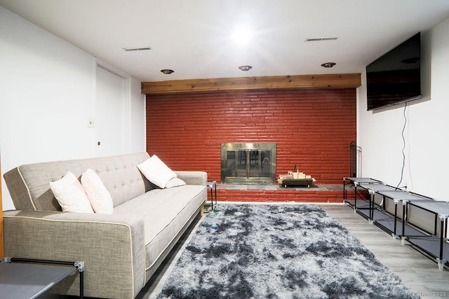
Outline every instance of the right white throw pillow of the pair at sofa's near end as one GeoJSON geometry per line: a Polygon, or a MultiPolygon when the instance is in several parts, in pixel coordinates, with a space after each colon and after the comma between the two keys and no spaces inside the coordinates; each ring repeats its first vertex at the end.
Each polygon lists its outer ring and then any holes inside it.
{"type": "Polygon", "coordinates": [[[100,179],[100,176],[96,174],[92,169],[87,169],[81,175],[81,185],[86,191],[89,202],[95,213],[99,214],[112,214],[114,210],[114,203],[109,191],[100,179]]]}

